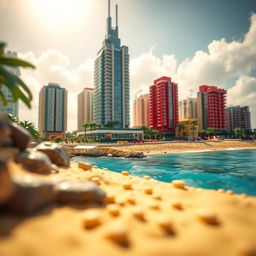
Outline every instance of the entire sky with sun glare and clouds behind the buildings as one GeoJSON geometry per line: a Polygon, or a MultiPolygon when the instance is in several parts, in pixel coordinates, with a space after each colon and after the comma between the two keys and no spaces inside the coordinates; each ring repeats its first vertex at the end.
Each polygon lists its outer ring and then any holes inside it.
{"type": "MultiPolygon", "coordinates": [[[[112,7],[119,5],[120,38],[130,49],[131,117],[135,93],[148,93],[155,79],[169,76],[178,83],[179,101],[191,94],[196,97],[202,84],[226,89],[227,106],[249,106],[256,128],[256,3],[111,2],[112,7]],[[218,13],[218,19],[210,11],[218,13]],[[172,15],[168,19],[161,13],[172,15]]],[[[32,110],[20,103],[20,119],[37,126],[39,90],[57,82],[68,91],[68,130],[76,130],[77,95],[85,87],[93,88],[93,62],[104,39],[106,7],[107,0],[2,1],[1,40],[37,67],[22,70],[34,100],[32,110]]]]}

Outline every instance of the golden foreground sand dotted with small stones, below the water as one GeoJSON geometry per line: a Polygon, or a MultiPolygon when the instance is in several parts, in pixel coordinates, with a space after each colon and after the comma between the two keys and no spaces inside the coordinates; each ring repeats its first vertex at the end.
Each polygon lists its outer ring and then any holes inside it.
{"type": "MultiPolygon", "coordinates": [[[[10,167],[22,172],[15,164],[10,167]]],[[[175,188],[127,173],[86,171],[74,163],[46,178],[53,177],[99,182],[109,204],[100,209],[52,206],[30,217],[0,215],[1,256],[256,253],[255,197],[175,188]]]]}

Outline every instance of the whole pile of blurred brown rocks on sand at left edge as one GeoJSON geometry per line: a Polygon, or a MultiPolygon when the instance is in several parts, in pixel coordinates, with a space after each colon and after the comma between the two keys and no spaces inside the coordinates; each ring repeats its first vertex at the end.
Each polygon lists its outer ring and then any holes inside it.
{"type": "Polygon", "coordinates": [[[70,157],[62,145],[33,143],[23,127],[0,116],[0,206],[2,209],[27,214],[50,203],[92,203],[102,205],[105,193],[91,181],[59,181],[39,175],[11,175],[8,161],[24,170],[51,174],[59,167],[69,167],[70,157]]]}

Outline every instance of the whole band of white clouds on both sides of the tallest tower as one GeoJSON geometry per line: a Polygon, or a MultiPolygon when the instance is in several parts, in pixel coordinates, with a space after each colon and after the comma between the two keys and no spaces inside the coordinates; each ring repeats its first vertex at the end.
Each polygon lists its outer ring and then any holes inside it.
{"type": "MultiPolygon", "coordinates": [[[[32,89],[33,109],[27,111],[21,106],[21,119],[37,123],[38,93],[42,85],[48,82],[60,83],[68,90],[68,129],[76,129],[77,94],[83,87],[93,86],[93,60],[88,59],[75,69],[71,69],[70,60],[59,51],[49,50],[38,58],[32,52],[20,57],[35,64],[36,71],[25,70],[22,77],[32,89]]],[[[229,104],[249,105],[253,127],[256,127],[255,78],[250,73],[256,69],[256,14],[251,16],[251,25],[242,41],[226,42],[214,40],[208,45],[208,51],[197,51],[178,65],[175,55],[157,57],[154,48],[131,59],[131,101],[135,93],[142,89],[148,92],[149,86],[160,76],[171,76],[179,85],[179,99],[194,95],[201,84],[227,88],[227,81],[237,77],[234,86],[228,90],[229,104]]],[[[132,104],[131,104],[132,106],[132,104]]]]}

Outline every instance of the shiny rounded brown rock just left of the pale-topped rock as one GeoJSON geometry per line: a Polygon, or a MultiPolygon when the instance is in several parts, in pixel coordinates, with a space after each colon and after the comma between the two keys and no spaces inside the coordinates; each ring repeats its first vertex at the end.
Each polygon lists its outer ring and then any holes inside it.
{"type": "Polygon", "coordinates": [[[43,152],[34,149],[23,151],[15,157],[15,162],[32,172],[49,174],[56,170],[49,159],[43,152]]]}

